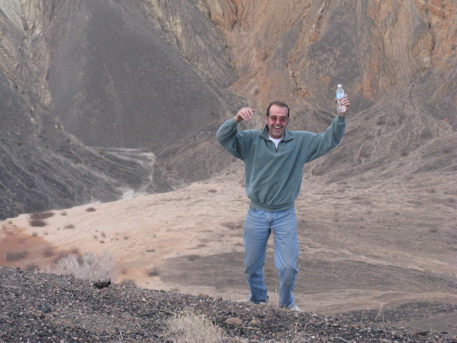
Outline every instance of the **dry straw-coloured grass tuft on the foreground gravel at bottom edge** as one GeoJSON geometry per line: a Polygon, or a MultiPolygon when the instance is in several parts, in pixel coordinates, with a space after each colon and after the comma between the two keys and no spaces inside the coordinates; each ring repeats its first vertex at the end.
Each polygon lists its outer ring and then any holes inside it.
{"type": "Polygon", "coordinates": [[[217,343],[223,341],[222,329],[207,316],[186,309],[167,321],[165,335],[175,343],[217,343]]]}

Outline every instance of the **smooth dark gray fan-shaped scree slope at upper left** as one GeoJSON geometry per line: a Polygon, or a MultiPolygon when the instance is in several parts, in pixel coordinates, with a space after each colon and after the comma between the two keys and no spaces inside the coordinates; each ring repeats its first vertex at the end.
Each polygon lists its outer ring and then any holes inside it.
{"type": "Polygon", "coordinates": [[[54,9],[49,108],[88,145],[161,147],[223,116],[221,97],[144,12],[128,0],[54,9]]]}

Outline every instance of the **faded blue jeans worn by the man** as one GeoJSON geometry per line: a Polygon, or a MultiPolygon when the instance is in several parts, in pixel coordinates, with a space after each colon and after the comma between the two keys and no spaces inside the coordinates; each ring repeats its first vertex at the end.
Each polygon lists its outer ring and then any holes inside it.
{"type": "Polygon", "coordinates": [[[266,243],[271,230],[275,235],[275,267],[279,275],[279,305],[294,304],[292,290],[297,278],[297,217],[295,209],[270,212],[248,209],[244,220],[244,276],[251,292],[249,300],[255,304],[268,299],[263,278],[266,243]]]}

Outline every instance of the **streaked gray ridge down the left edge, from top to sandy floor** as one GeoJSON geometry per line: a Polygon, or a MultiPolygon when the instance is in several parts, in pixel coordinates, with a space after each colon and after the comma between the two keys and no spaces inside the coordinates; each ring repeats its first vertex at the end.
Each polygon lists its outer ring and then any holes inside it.
{"type": "MultiPolygon", "coordinates": [[[[34,5],[24,6],[27,15],[42,18],[43,12],[34,5]]],[[[46,86],[34,64],[32,42],[42,27],[40,21],[28,21],[13,2],[1,6],[0,218],[112,201],[131,191],[170,190],[173,182],[160,176],[154,154],[88,148],[63,130],[48,112],[46,86]]]]}

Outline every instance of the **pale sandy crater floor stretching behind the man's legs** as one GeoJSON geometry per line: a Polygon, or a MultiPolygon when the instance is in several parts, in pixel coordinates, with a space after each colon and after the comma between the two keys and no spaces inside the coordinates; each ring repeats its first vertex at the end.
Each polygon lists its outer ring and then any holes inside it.
{"type": "MultiPolygon", "coordinates": [[[[40,241],[27,257],[9,264],[24,267],[43,260],[47,244],[55,247],[48,261],[58,251],[107,249],[122,271],[117,282],[245,298],[242,225],[248,200],[241,168],[234,163],[208,182],[170,193],[53,211],[44,227],[30,226],[30,216],[23,214],[1,223],[2,251],[20,248],[17,241],[10,245],[15,237],[22,237],[22,250],[40,241]]],[[[363,177],[329,184],[305,174],[296,206],[298,305],[327,314],[365,311],[366,318],[382,306],[390,320],[455,310],[456,212],[448,206],[453,203],[446,191],[430,191],[433,179],[426,174],[393,184],[395,179],[373,184],[363,177]],[[425,205],[415,205],[419,201],[425,205]]],[[[276,301],[272,242],[271,237],[265,274],[276,301]]],[[[448,331],[455,325],[441,322],[448,331]]]]}

